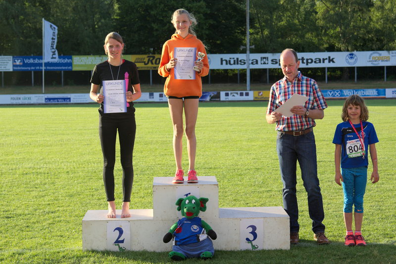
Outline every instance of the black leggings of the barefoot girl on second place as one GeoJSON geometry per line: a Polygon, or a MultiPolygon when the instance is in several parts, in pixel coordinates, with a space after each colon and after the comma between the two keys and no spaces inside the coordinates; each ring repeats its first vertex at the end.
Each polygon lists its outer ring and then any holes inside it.
{"type": "Polygon", "coordinates": [[[99,137],[103,153],[103,182],[107,201],[114,201],[114,164],[115,141],[120,141],[120,157],[122,166],[122,192],[124,202],[131,202],[133,184],[132,155],[135,143],[136,122],[134,113],[123,113],[110,117],[99,115],[99,137]]]}

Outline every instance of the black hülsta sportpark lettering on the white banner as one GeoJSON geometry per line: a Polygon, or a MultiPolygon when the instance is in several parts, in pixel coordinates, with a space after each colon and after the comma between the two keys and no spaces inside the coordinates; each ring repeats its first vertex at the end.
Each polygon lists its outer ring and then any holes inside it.
{"type": "MultiPolygon", "coordinates": [[[[306,66],[310,64],[323,64],[323,63],[336,63],[335,57],[332,56],[327,56],[327,57],[321,57],[321,58],[306,58],[306,57],[300,57],[300,63],[304,64],[306,66]]],[[[251,58],[250,59],[250,65],[258,65],[258,64],[272,64],[272,65],[281,65],[280,64],[280,59],[278,58],[272,58],[271,60],[269,57],[260,57],[260,62],[256,58],[251,58]]],[[[220,65],[246,65],[246,59],[245,58],[239,58],[239,57],[228,57],[228,58],[220,58],[220,65]]]]}

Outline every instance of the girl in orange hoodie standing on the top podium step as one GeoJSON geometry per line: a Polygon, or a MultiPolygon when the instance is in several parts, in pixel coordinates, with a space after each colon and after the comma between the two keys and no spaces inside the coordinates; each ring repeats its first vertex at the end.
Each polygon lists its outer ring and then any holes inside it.
{"type": "Polygon", "coordinates": [[[167,77],[164,93],[168,97],[169,111],[173,123],[173,152],[176,159],[176,174],[172,182],[184,182],[184,171],[182,168],[184,108],[187,151],[190,163],[188,182],[196,183],[198,178],[195,171],[197,150],[195,126],[198,116],[198,101],[202,95],[201,76],[208,74],[209,63],[205,46],[197,39],[196,33],[193,31],[193,27],[197,24],[195,17],[185,9],[177,9],[172,15],[171,22],[176,32],[162,47],[158,73],[163,77],[167,77]],[[195,61],[198,52],[204,53],[205,56],[202,60],[195,61]],[[191,57],[191,54],[194,54],[194,57],[191,57]],[[192,64],[193,61],[195,61],[194,64],[192,64]],[[191,65],[186,66],[186,64],[191,65]],[[190,66],[191,68],[196,66],[196,70],[192,74],[190,66]]]}

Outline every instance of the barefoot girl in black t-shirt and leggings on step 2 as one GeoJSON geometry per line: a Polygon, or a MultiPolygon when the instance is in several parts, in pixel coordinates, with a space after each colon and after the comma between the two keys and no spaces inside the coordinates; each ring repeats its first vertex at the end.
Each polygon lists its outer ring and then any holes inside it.
{"type": "Polygon", "coordinates": [[[115,141],[118,137],[120,141],[120,156],[122,166],[122,190],[124,200],[122,203],[121,217],[130,217],[129,203],[131,202],[131,192],[133,183],[132,155],[135,142],[135,107],[133,101],[141,97],[140,80],[138,68],[132,61],[122,59],[124,43],[121,36],[116,32],[109,33],[104,40],[104,52],[108,59],[95,66],[91,77],[92,100],[100,104],[99,107],[99,137],[103,153],[103,181],[108,202],[108,213],[106,217],[115,218],[114,202],[114,163],[115,163],[115,141]],[[101,91],[102,81],[124,80],[128,83],[125,94],[127,112],[104,113],[103,95],[101,91]],[[100,93],[98,94],[98,89],[100,93]]]}

